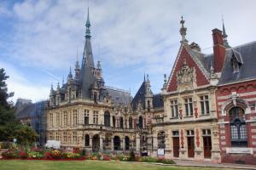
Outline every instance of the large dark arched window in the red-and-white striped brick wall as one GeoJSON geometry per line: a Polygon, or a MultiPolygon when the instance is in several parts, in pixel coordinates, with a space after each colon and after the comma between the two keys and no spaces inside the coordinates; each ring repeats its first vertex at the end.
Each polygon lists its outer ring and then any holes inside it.
{"type": "Polygon", "coordinates": [[[230,134],[232,147],[247,147],[247,127],[241,107],[230,109],[230,134]]]}

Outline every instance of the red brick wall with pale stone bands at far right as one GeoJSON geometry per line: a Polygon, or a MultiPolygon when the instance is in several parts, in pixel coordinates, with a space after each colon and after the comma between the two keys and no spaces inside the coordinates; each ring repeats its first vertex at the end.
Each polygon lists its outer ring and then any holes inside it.
{"type": "Polygon", "coordinates": [[[222,161],[256,164],[256,81],[220,86],[216,99],[222,161]],[[244,111],[247,147],[234,147],[231,144],[229,111],[234,107],[241,107],[244,111]]]}

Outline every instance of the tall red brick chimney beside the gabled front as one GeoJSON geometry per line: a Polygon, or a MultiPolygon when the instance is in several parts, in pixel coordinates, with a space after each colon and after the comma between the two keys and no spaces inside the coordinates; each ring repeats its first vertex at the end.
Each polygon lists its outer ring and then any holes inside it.
{"type": "Polygon", "coordinates": [[[213,29],[212,38],[213,38],[214,71],[221,72],[224,65],[225,54],[226,54],[222,31],[218,30],[217,28],[213,29]]]}

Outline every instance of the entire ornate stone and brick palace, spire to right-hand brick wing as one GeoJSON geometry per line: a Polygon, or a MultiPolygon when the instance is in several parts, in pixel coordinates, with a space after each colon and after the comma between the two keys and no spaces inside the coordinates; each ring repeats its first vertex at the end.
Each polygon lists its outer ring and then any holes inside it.
{"type": "Polygon", "coordinates": [[[101,63],[95,66],[88,12],[82,64],[50,90],[47,139],[66,148],[254,163],[256,43],[231,48],[223,25],[212,30],[213,53],[203,54],[180,23],[180,48],[161,94],[152,93],[147,76],[132,98],[106,86],[101,63]]]}

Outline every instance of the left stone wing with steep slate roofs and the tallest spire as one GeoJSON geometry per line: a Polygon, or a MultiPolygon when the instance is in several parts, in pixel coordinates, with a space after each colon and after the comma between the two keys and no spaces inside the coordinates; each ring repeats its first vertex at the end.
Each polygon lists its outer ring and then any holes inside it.
{"type": "MultiPolygon", "coordinates": [[[[144,77],[135,98],[125,90],[105,85],[100,62],[95,66],[90,43],[89,11],[86,21],[84,55],[75,64],[67,82],[51,87],[47,109],[47,139],[61,141],[65,148],[92,151],[130,150],[142,153],[148,146],[148,129],[154,106],[162,105],[144,77]]],[[[152,144],[152,142],[150,143],[152,144]]]]}

